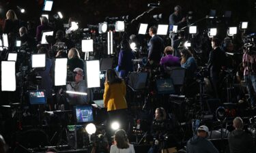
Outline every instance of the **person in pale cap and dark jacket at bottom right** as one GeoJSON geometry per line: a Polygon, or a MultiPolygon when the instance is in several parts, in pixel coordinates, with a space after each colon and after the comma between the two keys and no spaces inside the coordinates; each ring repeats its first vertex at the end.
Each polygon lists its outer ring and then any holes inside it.
{"type": "Polygon", "coordinates": [[[187,153],[218,153],[211,141],[207,139],[209,129],[207,126],[202,125],[197,129],[197,135],[190,138],[186,144],[187,153]]]}

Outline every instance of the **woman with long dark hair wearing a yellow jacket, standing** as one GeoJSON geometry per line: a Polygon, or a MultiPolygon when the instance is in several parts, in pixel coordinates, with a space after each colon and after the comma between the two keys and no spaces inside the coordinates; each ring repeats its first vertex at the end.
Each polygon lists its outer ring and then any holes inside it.
{"type": "MultiPolygon", "coordinates": [[[[113,69],[106,71],[106,80],[104,88],[104,107],[109,114],[110,123],[113,121],[126,121],[126,84],[119,78],[113,69]]],[[[126,122],[122,122],[125,126],[126,122]]],[[[124,127],[126,128],[126,127],[124,127]]]]}

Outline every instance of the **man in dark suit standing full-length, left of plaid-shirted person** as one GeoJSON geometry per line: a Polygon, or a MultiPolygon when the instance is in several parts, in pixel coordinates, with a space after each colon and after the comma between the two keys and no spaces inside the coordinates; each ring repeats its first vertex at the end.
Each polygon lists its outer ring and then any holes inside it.
{"type": "Polygon", "coordinates": [[[221,72],[222,67],[226,65],[226,55],[221,50],[221,40],[218,38],[212,39],[212,48],[213,50],[209,54],[209,61],[208,61],[208,69],[210,70],[210,80],[215,92],[215,97],[219,98],[220,93],[219,84],[220,84],[220,77],[219,74],[221,72]]]}

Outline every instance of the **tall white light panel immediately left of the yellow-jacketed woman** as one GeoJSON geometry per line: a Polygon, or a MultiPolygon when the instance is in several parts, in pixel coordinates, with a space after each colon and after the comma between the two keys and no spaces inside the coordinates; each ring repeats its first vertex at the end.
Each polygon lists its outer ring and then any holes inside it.
{"type": "Polygon", "coordinates": [[[100,87],[100,61],[86,61],[87,88],[100,87]]]}

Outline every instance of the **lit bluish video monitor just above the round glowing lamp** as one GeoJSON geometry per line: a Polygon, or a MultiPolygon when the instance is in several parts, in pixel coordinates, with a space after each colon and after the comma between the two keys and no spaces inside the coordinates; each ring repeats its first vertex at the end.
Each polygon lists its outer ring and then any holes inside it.
{"type": "Polygon", "coordinates": [[[80,105],[74,107],[76,124],[94,122],[94,113],[91,105],[80,105]]]}

